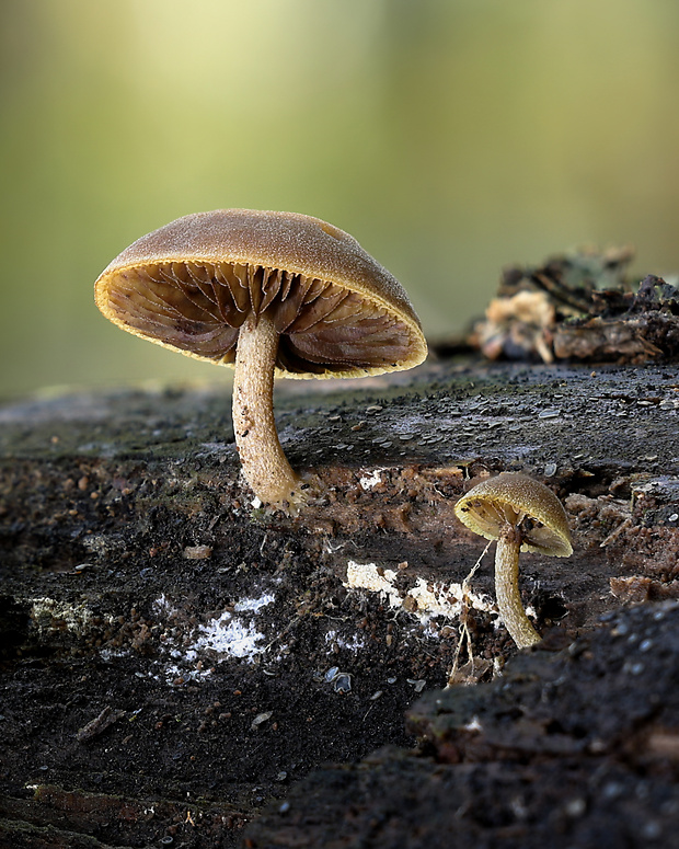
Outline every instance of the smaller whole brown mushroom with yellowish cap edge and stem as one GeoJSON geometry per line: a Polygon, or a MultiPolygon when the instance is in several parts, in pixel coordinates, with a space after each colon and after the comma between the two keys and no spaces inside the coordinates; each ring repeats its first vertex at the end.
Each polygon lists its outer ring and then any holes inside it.
{"type": "Polygon", "coordinates": [[[556,558],[573,553],[566,513],[554,493],[525,474],[503,472],[476,484],[454,507],[468,528],[496,539],[495,594],[499,615],[519,649],[542,639],[519,593],[519,551],[556,558]]]}

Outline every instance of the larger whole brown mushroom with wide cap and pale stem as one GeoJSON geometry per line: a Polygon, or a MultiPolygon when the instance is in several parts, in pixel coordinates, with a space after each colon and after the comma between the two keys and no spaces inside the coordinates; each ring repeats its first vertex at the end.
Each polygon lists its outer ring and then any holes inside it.
{"type": "Polygon", "coordinates": [[[304,494],[276,433],[274,375],[381,375],[427,354],[399,282],[348,233],[295,213],[184,216],[116,256],[94,292],[123,330],[234,367],[243,473],[255,495],[277,507],[304,494]]]}

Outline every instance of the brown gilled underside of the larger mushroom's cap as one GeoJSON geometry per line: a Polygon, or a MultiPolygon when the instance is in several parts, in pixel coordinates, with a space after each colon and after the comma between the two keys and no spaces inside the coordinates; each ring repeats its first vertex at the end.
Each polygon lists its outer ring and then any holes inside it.
{"type": "Polygon", "coordinates": [[[408,359],[411,331],[381,303],[344,286],[279,268],[166,262],[118,272],[107,287],[114,320],[194,356],[233,364],[249,314],[279,333],[276,366],[291,375],[391,369],[408,359]]]}

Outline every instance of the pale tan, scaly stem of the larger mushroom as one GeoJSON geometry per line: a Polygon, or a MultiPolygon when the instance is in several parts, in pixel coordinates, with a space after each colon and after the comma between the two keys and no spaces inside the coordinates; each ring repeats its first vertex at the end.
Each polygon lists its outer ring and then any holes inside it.
{"type": "Polygon", "coordinates": [[[265,504],[300,502],[292,471],[274,420],[274,366],[278,331],[266,312],[248,315],[241,325],[233,377],[233,431],[243,473],[265,504]]]}

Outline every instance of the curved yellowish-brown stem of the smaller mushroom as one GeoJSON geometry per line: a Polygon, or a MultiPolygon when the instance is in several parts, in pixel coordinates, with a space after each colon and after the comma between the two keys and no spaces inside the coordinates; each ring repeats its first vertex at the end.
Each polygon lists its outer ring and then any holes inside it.
{"type": "Polygon", "coordinates": [[[526,616],[519,593],[519,550],[523,541],[518,527],[505,525],[495,549],[495,595],[499,615],[519,649],[539,643],[542,638],[526,616]]]}

